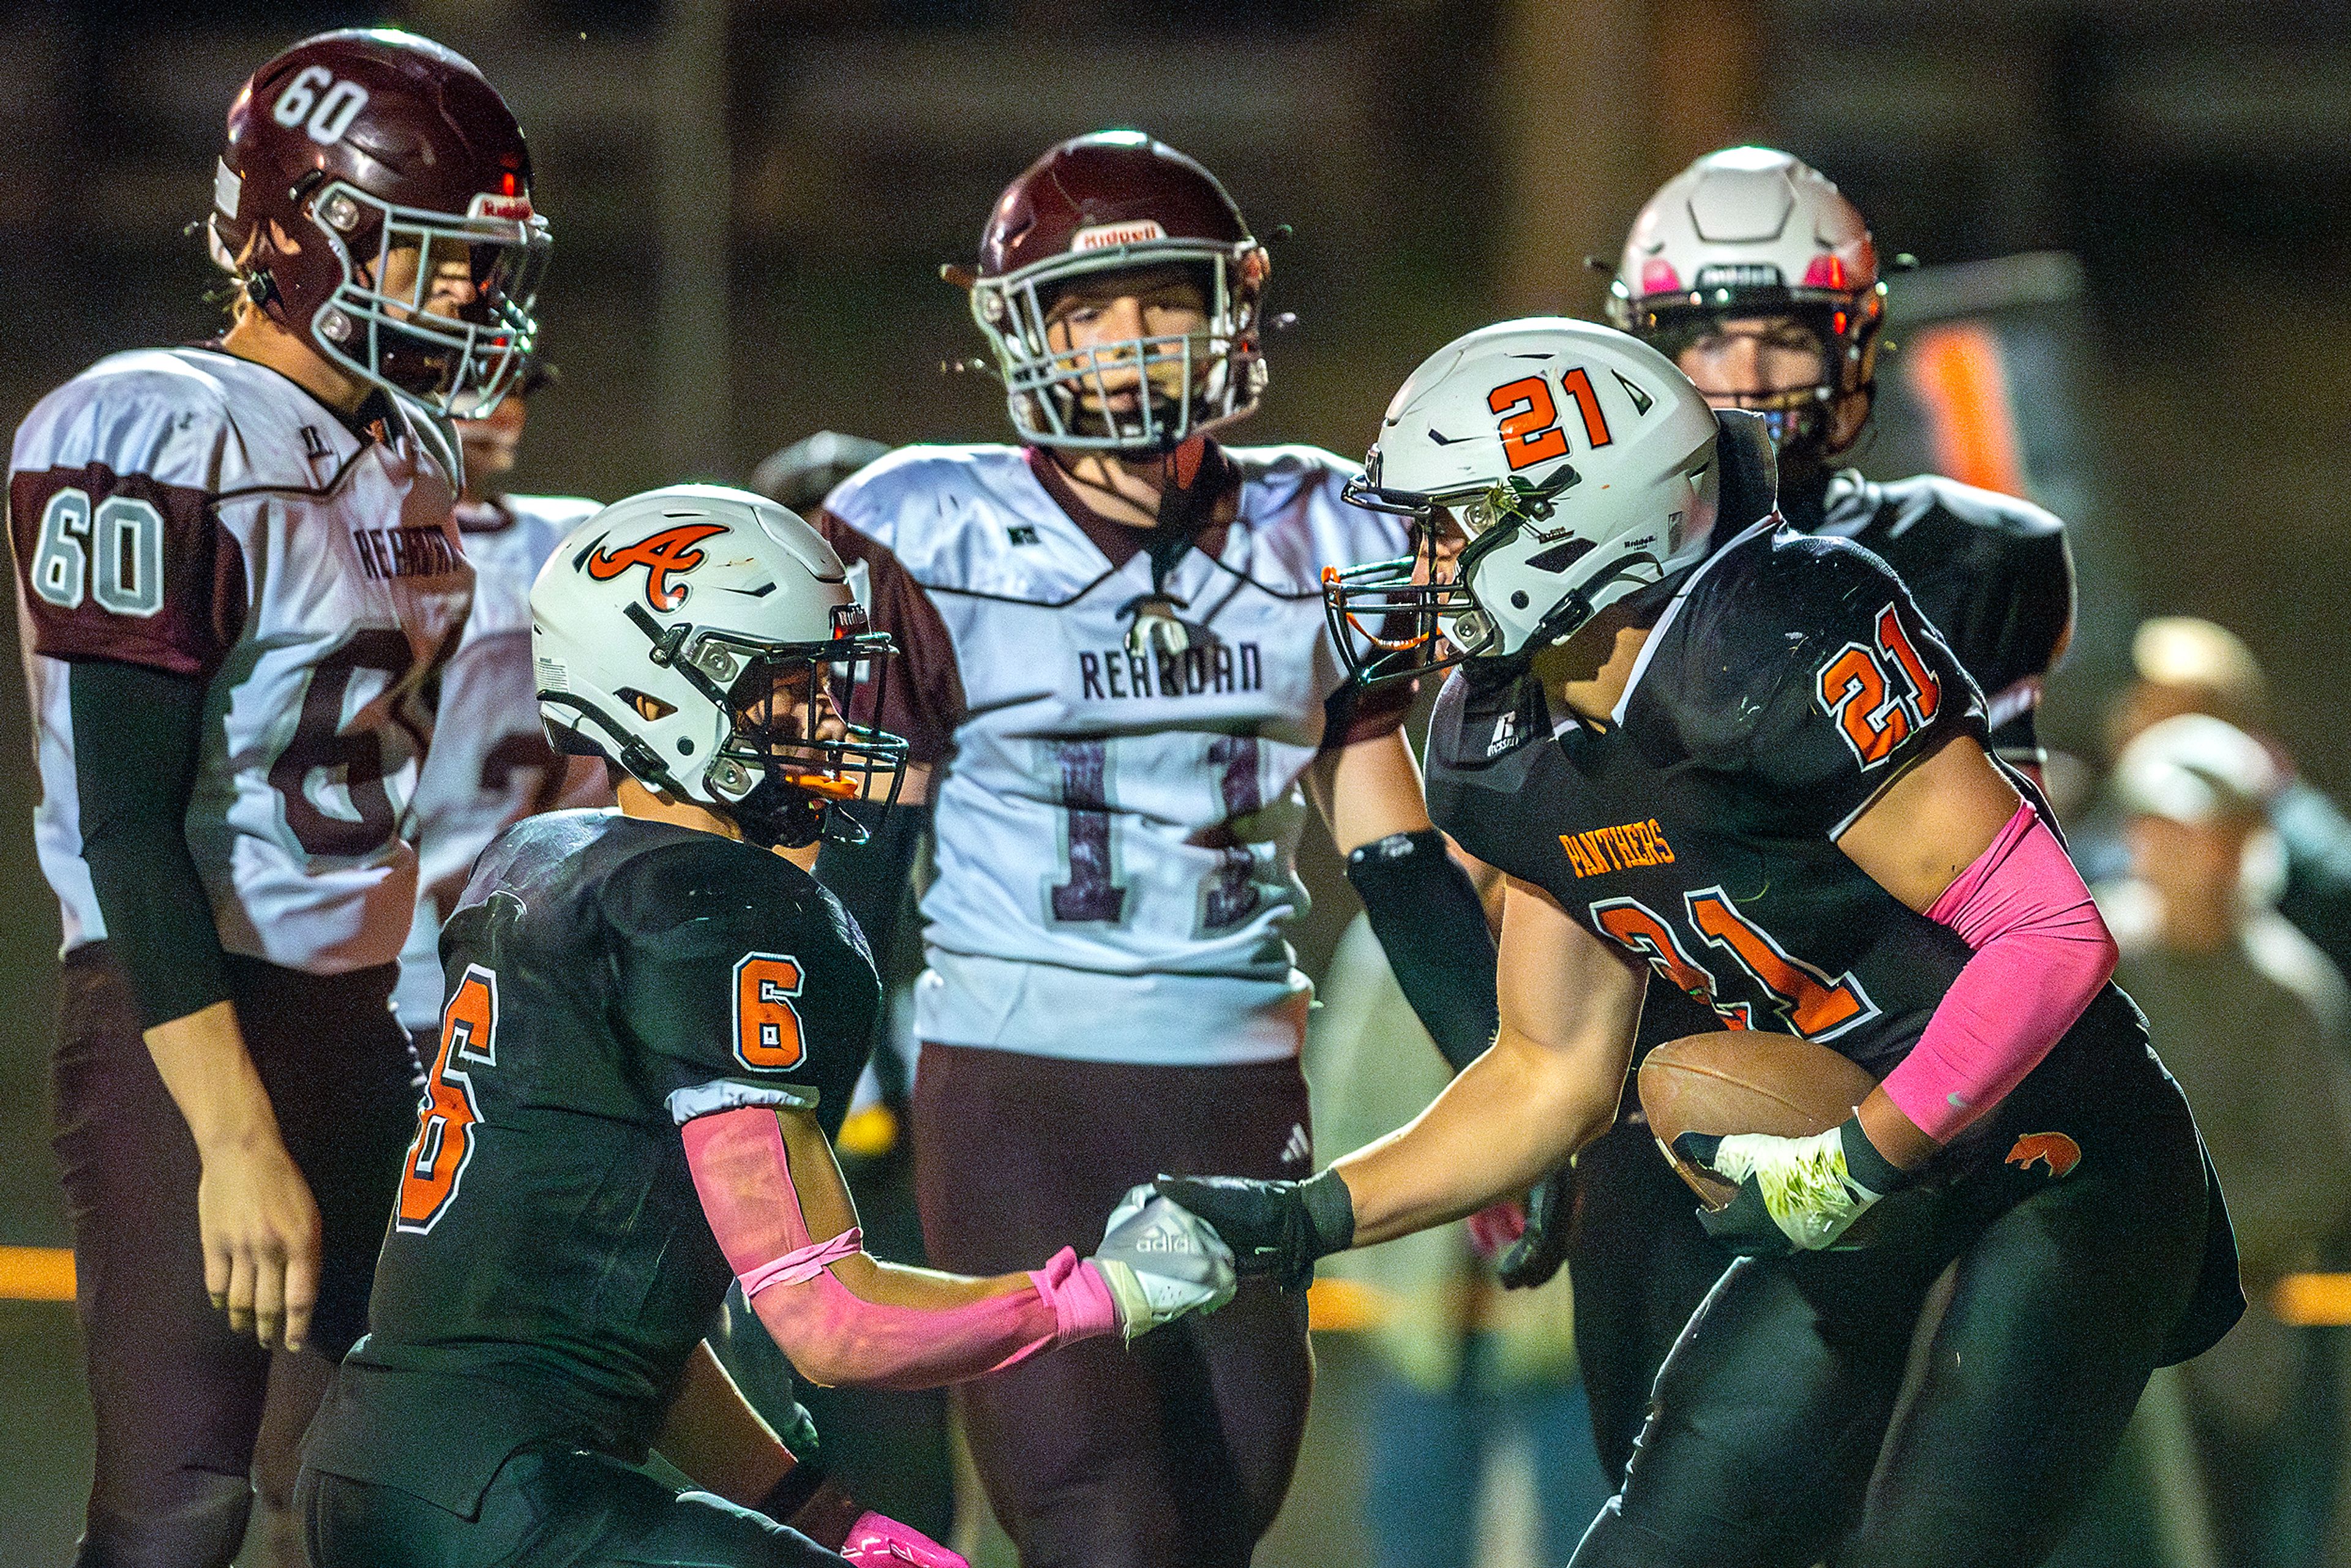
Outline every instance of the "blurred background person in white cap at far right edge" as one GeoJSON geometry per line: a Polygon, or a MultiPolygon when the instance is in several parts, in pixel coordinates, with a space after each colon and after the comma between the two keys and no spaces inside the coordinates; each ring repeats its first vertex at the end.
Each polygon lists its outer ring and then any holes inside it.
{"type": "Polygon", "coordinates": [[[2149,724],[2111,778],[2130,870],[2097,889],[2123,950],[2116,983],[2163,1039],[2222,1171],[2250,1300],[2217,1347],[2156,1375],[2123,1469],[2175,1561],[2226,1568],[2316,1568],[2351,1544],[2332,1523],[2344,1331],[2280,1321],[2273,1300],[2292,1274],[2351,1262],[2346,992],[2273,905],[2283,788],[2276,757],[2217,717],[2149,724]],[[2203,1519],[2186,1516],[2198,1505],[2203,1519]]]}

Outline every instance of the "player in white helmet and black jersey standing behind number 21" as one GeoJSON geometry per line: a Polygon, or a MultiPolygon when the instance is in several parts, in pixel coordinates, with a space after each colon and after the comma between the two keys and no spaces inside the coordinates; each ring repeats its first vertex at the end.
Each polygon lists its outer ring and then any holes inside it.
{"type": "MultiPolygon", "coordinates": [[[[2064,527],[2036,505],[1918,475],[1876,484],[1838,468],[1869,421],[1886,284],[1869,226],[1787,153],[1728,148],[1676,174],[1634,219],[1610,315],[1697,383],[1716,409],[1754,409],[1777,449],[1780,515],[1850,538],[1895,569],[1911,602],[1984,691],[1991,750],[2038,783],[2034,710],[2074,632],[2064,527]]],[[[1721,543],[1721,541],[1719,541],[1721,543]]],[[[1634,1063],[1704,1027],[1650,987],[1634,1063]]],[[[1625,1476],[1665,1352],[1723,1272],[1683,1185],[1655,1159],[1634,1095],[1575,1161],[1578,1229],[1533,1206],[1502,1284],[1542,1284],[1568,1260],[1575,1349],[1610,1476],[1625,1476]]]]}

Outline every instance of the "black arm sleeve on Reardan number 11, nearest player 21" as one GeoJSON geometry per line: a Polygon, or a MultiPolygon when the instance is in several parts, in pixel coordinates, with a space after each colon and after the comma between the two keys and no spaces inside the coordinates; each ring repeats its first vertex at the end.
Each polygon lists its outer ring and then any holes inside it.
{"type": "Polygon", "coordinates": [[[1434,827],[1392,832],[1347,856],[1371,933],[1387,950],[1404,999],[1436,1051],[1460,1072],[1493,1044],[1495,945],[1486,905],[1434,827]]]}

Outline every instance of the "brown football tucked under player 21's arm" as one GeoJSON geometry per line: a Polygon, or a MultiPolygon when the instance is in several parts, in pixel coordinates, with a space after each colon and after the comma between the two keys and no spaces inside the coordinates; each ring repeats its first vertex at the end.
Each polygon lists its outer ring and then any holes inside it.
{"type": "Polygon", "coordinates": [[[1683,1133],[1827,1133],[1876,1088],[1862,1067],[1794,1034],[1714,1030],[1669,1039],[1641,1063],[1641,1112],[1657,1147],[1707,1208],[1737,1187],[1674,1154],[1683,1133]]]}

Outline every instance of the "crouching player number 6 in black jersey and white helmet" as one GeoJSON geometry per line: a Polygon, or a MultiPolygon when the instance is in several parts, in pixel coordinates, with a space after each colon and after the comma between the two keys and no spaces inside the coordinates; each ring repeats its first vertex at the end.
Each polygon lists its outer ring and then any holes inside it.
{"type": "Polygon", "coordinates": [[[310,1559],[959,1568],[752,1415],[703,1342],[729,1281],[806,1375],[929,1387],[1223,1305],[1230,1253],[1138,1190],[1034,1274],[865,1255],[828,1135],[879,983],[809,865],[905,743],[837,717],[891,646],[809,524],[698,484],[621,501],[541,571],[531,642],[550,738],[621,809],[505,830],[442,931],[369,1335],[303,1450],[310,1559]]]}

